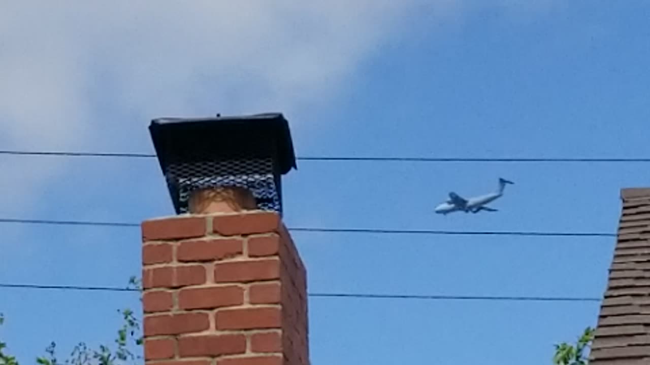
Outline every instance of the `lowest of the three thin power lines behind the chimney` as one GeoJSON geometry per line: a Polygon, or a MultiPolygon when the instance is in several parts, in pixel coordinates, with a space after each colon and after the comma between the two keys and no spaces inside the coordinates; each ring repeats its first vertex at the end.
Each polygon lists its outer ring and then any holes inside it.
{"type": "MultiPolygon", "coordinates": [[[[78,286],[40,284],[0,284],[0,288],[42,289],[42,290],[85,290],[100,292],[140,292],[136,288],[117,286],[78,286]]],[[[309,293],[310,297],[338,297],[363,299],[422,299],[422,300],[482,300],[482,301],[601,301],[597,297],[541,297],[541,296],[443,296],[417,294],[361,294],[361,293],[309,293]]]]}

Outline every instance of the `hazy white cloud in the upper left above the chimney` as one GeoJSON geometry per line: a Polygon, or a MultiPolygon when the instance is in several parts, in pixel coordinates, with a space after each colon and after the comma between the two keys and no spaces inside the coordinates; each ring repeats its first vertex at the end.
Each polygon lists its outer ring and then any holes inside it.
{"type": "MultiPolygon", "coordinates": [[[[0,144],[93,150],[105,138],[98,121],[119,125],[126,139],[146,135],[156,116],[291,114],[345,88],[346,75],[413,14],[445,16],[463,3],[4,1],[0,144]]],[[[66,168],[33,161],[5,170],[21,179],[0,183],[14,192],[0,195],[2,214],[23,212],[66,168]]]]}

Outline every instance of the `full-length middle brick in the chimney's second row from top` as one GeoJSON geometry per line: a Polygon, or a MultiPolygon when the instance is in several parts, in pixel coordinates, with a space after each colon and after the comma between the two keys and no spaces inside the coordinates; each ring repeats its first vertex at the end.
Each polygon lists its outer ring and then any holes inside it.
{"type": "Polygon", "coordinates": [[[213,261],[241,255],[243,240],[201,240],[181,242],[177,249],[177,259],[186,261],[213,261]]]}

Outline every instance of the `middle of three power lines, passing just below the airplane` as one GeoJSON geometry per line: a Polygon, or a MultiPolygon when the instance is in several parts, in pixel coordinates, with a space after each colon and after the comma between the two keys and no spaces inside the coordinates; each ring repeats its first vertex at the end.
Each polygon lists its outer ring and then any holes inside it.
{"type": "MultiPolygon", "coordinates": [[[[84,225],[101,227],[140,227],[138,223],[109,221],[64,221],[64,220],[23,220],[0,218],[0,223],[43,224],[43,225],[84,225]]],[[[616,237],[616,233],[597,232],[537,232],[537,231],[443,231],[434,229],[361,229],[361,228],[318,228],[289,227],[289,231],[312,233],[369,233],[369,234],[429,234],[453,236],[547,236],[547,237],[616,237]]]]}

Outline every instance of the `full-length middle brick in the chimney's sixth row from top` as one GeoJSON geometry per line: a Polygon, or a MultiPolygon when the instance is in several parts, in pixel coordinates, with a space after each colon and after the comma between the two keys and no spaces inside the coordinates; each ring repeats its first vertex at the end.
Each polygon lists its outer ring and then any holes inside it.
{"type": "Polygon", "coordinates": [[[178,340],[181,357],[235,355],[246,352],[246,336],[222,334],[217,336],[183,336],[178,340]]]}

